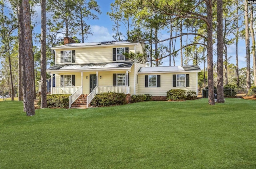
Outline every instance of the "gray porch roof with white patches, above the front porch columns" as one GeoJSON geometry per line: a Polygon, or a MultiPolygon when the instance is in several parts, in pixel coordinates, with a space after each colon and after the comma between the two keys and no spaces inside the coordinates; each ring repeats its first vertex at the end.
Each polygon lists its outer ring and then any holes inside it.
{"type": "Polygon", "coordinates": [[[58,71],[76,71],[76,70],[109,70],[109,69],[130,69],[133,62],[112,62],[112,63],[95,63],[95,64],[61,64],[54,65],[47,69],[48,72],[51,70],[58,71]]]}

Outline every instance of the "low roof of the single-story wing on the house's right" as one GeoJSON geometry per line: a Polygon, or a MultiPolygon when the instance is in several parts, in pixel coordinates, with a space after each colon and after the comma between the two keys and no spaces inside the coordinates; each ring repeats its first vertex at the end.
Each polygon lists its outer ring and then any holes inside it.
{"type": "Polygon", "coordinates": [[[154,72],[200,72],[199,66],[162,66],[140,68],[139,73],[154,72]]]}

